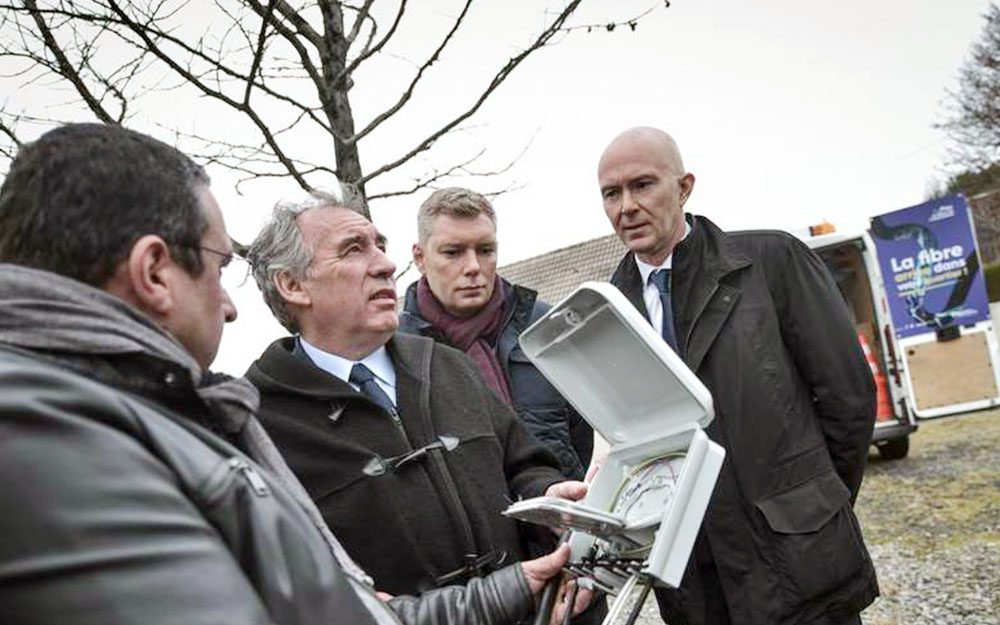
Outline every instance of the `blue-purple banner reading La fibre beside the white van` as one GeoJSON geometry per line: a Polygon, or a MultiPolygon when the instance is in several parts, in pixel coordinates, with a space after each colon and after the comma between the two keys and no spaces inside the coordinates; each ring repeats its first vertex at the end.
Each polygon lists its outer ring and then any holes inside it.
{"type": "Polygon", "coordinates": [[[896,336],[989,319],[989,300],[965,198],[949,195],[873,217],[896,336]]]}

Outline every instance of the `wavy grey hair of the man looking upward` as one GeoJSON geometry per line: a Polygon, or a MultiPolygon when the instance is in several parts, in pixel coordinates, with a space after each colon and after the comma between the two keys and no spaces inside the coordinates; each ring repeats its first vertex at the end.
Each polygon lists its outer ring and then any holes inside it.
{"type": "Polygon", "coordinates": [[[288,310],[288,304],[278,292],[275,280],[282,273],[299,280],[305,279],[315,250],[309,249],[302,240],[299,216],[321,208],[346,208],[357,213],[363,212],[360,195],[350,185],[342,185],[340,194],[311,191],[309,197],[302,202],[278,202],[271,213],[271,219],[247,251],[247,260],[253,267],[253,279],[264,295],[264,302],[281,325],[293,334],[299,332],[299,322],[288,310]]]}

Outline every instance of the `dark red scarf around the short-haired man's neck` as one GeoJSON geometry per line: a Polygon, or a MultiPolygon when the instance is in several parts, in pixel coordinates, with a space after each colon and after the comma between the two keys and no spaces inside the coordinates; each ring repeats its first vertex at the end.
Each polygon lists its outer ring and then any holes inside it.
{"type": "Polygon", "coordinates": [[[479,372],[486,378],[486,385],[493,389],[497,397],[511,404],[513,400],[507,387],[507,377],[494,349],[506,317],[506,290],[500,277],[494,278],[490,300],[479,312],[463,319],[445,310],[431,292],[427,278],[421,278],[417,283],[417,309],[420,316],[437,328],[449,344],[472,357],[479,372]]]}

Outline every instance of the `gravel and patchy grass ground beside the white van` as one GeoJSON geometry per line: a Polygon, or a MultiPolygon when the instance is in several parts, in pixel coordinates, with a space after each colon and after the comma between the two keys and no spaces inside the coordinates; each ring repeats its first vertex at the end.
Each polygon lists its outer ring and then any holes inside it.
{"type": "MultiPolygon", "coordinates": [[[[921,422],[902,460],[873,450],[856,510],[882,590],[865,625],[1000,625],[1000,410],[921,422]]],[[[661,623],[650,597],[639,624],[661,623]]]]}

